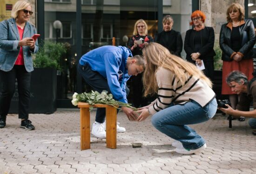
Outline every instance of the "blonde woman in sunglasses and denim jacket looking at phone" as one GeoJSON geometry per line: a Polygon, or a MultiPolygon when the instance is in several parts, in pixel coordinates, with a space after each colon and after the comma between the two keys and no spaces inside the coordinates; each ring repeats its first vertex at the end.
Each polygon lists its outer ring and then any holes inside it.
{"type": "Polygon", "coordinates": [[[31,71],[34,70],[31,53],[38,51],[38,43],[32,39],[35,27],[28,23],[33,14],[31,9],[29,2],[18,0],[13,6],[12,18],[0,23],[0,128],[6,126],[17,79],[20,127],[34,129],[28,120],[28,110],[31,71]]]}

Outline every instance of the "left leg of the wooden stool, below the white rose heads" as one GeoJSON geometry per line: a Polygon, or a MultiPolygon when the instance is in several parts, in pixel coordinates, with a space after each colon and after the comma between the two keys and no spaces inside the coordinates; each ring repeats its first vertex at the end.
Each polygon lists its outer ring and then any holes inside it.
{"type": "Polygon", "coordinates": [[[81,138],[80,138],[81,150],[91,148],[89,108],[80,108],[80,135],[81,135],[81,138]]]}

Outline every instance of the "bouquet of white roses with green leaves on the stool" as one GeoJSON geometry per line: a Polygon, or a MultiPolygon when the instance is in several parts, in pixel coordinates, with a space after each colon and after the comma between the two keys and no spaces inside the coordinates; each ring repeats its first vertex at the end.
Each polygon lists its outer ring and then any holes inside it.
{"type": "MultiPolygon", "coordinates": [[[[85,102],[90,105],[108,104],[108,105],[114,106],[116,109],[120,109],[119,107],[127,107],[135,111],[138,110],[137,108],[132,107],[130,103],[123,103],[123,102],[116,101],[113,98],[112,94],[108,94],[107,90],[103,90],[101,93],[93,90],[91,92],[88,92],[88,93],[83,92],[81,94],[78,94],[75,92],[73,95],[73,100],[71,102],[74,106],[77,106],[78,102],[85,102]]],[[[93,107],[90,107],[90,110],[92,109],[93,107]]]]}

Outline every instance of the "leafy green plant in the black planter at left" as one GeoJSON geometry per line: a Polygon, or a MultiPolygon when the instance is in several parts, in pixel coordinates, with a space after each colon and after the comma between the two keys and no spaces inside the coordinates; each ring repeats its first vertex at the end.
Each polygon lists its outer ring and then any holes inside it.
{"type": "Polygon", "coordinates": [[[66,53],[66,48],[62,43],[54,43],[46,41],[41,44],[37,52],[33,64],[35,68],[55,68],[62,70],[61,58],[66,53]]]}

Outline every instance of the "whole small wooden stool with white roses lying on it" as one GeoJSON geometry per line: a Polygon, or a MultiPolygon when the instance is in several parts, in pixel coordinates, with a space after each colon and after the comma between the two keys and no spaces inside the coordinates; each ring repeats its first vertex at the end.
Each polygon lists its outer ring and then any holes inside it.
{"type": "Polygon", "coordinates": [[[94,104],[79,102],[81,150],[90,148],[90,111],[89,108],[106,108],[106,142],[107,148],[116,148],[116,108],[108,104],[94,104]]]}

